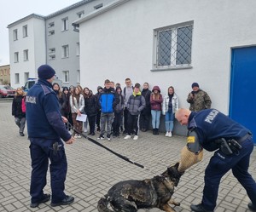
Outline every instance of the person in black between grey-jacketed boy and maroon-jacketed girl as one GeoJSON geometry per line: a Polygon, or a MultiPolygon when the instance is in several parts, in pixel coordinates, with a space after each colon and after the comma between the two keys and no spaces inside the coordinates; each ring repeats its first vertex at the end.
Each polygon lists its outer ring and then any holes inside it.
{"type": "Polygon", "coordinates": [[[146,132],[148,130],[149,119],[151,116],[151,106],[150,106],[151,90],[149,90],[148,87],[149,87],[148,83],[143,84],[142,95],[144,96],[144,98],[146,100],[146,106],[140,115],[140,129],[143,132],[146,132]]]}

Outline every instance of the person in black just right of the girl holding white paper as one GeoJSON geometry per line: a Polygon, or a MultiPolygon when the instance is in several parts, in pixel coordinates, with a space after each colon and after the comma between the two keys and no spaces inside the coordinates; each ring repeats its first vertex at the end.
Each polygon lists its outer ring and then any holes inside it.
{"type": "Polygon", "coordinates": [[[84,112],[87,115],[90,127],[89,135],[95,135],[95,123],[97,114],[96,96],[88,88],[84,88],[84,112]]]}

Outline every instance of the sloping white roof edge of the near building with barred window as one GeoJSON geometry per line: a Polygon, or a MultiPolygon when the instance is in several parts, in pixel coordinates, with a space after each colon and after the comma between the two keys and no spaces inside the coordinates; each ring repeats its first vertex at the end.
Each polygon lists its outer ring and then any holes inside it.
{"type": "Polygon", "coordinates": [[[96,17],[100,14],[104,14],[104,13],[108,12],[109,10],[114,9],[116,7],[119,7],[119,5],[121,5],[123,3],[127,3],[129,1],[131,1],[131,0],[116,0],[116,1],[113,1],[112,3],[107,4],[106,6],[102,7],[101,9],[97,9],[96,11],[80,18],[79,20],[75,20],[73,22],[73,24],[79,25],[80,23],[83,23],[86,20],[93,19],[94,17],[96,17]]]}

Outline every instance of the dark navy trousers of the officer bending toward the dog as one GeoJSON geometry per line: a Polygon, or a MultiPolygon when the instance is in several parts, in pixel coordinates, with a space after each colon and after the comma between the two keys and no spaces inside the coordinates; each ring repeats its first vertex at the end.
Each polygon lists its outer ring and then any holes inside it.
{"type": "Polygon", "coordinates": [[[202,204],[205,209],[213,210],[218,197],[218,186],[221,178],[232,169],[233,175],[241,183],[248,197],[256,205],[256,183],[248,173],[250,154],[253,152],[253,140],[248,138],[241,143],[239,153],[225,156],[219,150],[212,156],[205,173],[205,187],[202,204]]]}

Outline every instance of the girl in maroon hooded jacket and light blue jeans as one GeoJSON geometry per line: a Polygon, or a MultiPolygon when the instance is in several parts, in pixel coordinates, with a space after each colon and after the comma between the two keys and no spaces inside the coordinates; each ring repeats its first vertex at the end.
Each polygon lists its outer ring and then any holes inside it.
{"type": "Polygon", "coordinates": [[[159,135],[161,104],[163,102],[160,92],[159,86],[156,85],[153,87],[152,94],[150,95],[153,135],[159,135]]]}

